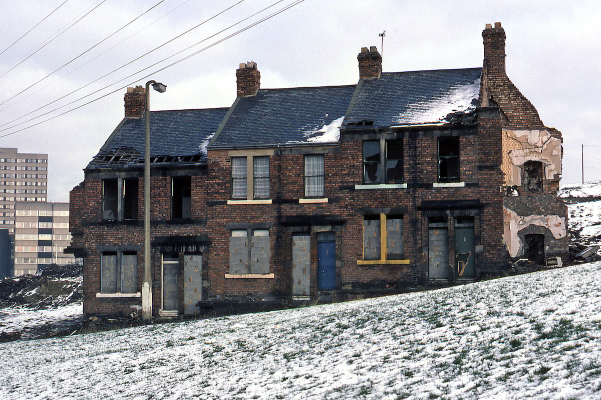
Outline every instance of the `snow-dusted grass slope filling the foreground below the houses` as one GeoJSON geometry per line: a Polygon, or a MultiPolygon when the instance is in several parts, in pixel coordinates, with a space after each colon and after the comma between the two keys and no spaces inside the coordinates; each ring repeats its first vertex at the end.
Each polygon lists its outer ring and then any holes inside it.
{"type": "Polygon", "coordinates": [[[0,344],[2,399],[598,399],[601,263],[0,344]]]}

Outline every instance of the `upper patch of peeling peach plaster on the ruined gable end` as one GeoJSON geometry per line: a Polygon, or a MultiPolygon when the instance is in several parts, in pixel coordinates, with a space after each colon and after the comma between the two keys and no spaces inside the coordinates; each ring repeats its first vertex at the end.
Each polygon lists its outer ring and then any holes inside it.
{"type": "Polygon", "coordinates": [[[561,174],[561,140],[548,130],[503,130],[505,185],[522,185],[522,166],[526,161],[543,163],[545,179],[561,174]]]}

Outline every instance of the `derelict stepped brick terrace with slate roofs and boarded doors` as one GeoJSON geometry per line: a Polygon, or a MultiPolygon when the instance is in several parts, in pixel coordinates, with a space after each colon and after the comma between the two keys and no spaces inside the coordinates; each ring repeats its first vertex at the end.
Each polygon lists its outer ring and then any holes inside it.
{"type": "MultiPolygon", "coordinates": [[[[385,73],[371,47],[355,85],[261,89],[249,62],[231,107],[151,112],[154,315],[565,259],[561,134],[507,78],[501,25],[483,38],[481,68],[385,73]]],[[[71,192],[85,314],[141,309],[144,98],[127,90],[125,118],[71,192]]]]}

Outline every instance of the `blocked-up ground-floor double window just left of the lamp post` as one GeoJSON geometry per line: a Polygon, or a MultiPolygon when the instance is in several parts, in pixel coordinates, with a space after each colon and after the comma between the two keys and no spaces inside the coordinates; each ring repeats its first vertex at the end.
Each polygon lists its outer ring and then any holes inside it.
{"type": "Polygon", "coordinates": [[[138,291],[136,252],[103,252],[100,258],[100,293],[138,291]]]}

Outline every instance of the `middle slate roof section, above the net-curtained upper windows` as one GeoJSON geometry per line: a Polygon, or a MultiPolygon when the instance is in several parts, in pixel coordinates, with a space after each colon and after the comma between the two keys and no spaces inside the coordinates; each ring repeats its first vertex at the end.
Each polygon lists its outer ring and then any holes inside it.
{"type": "Polygon", "coordinates": [[[338,142],[355,85],[260,89],[240,98],[211,147],[338,142]]]}

